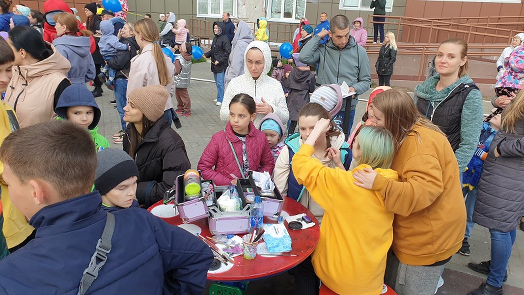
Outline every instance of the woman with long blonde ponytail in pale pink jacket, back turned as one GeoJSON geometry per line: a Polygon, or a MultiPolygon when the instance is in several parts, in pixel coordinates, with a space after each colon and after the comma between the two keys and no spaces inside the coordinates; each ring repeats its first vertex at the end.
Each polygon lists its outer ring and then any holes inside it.
{"type": "Polygon", "coordinates": [[[140,54],[131,60],[129,78],[127,81],[127,98],[133,90],[150,85],[161,85],[168,92],[165,115],[169,125],[173,121],[173,102],[171,94],[174,91],[174,64],[163,54],[158,44],[160,34],[158,27],[149,18],[138,20],[135,24],[135,39],[140,46],[140,54]]]}

